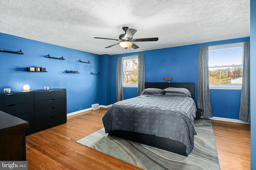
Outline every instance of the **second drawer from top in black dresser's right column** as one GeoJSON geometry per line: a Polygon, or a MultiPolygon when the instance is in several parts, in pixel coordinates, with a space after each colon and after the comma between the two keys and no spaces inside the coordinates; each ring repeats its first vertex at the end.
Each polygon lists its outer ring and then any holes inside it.
{"type": "Polygon", "coordinates": [[[52,99],[52,100],[43,100],[35,102],[35,111],[45,110],[60,106],[66,106],[66,98],[52,99]]]}

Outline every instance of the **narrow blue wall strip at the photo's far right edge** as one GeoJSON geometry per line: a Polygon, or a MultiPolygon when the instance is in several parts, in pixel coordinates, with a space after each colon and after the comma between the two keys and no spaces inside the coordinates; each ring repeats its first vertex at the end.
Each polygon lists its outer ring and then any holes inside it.
{"type": "Polygon", "coordinates": [[[256,170],[256,0],[250,3],[251,170],[256,170]]]}

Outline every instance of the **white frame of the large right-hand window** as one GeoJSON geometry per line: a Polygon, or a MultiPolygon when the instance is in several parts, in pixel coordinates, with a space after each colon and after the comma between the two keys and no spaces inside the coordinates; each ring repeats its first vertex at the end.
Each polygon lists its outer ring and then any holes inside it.
{"type": "MultiPolygon", "coordinates": [[[[208,47],[208,52],[209,51],[214,51],[214,50],[232,49],[232,48],[238,48],[238,47],[242,47],[242,64],[238,64],[238,65],[225,65],[225,66],[208,66],[208,70],[209,70],[209,68],[223,68],[223,67],[236,67],[236,66],[242,66],[242,69],[243,69],[243,63],[244,63],[244,42],[222,44],[222,45],[212,45],[212,46],[208,47]]],[[[209,83],[209,89],[241,90],[242,89],[242,84],[210,84],[209,83]]]]}

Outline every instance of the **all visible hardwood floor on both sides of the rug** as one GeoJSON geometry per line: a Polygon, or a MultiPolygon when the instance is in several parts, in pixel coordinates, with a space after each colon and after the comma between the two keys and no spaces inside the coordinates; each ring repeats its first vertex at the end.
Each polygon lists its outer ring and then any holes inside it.
{"type": "MultiPolygon", "coordinates": [[[[141,170],[76,141],[103,128],[100,108],[68,117],[67,123],[26,136],[28,170],[141,170]]],[[[250,169],[250,125],[213,121],[222,170],[250,169]]]]}

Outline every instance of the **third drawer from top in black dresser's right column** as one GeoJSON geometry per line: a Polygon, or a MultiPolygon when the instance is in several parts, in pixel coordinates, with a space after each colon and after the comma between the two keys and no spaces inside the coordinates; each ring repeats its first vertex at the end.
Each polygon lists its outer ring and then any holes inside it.
{"type": "Polygon", "coordinates": [[[35,111],[35,121],[62,114],[67,114],[67,106],[53,107],[51,109],[35,111]]]}

